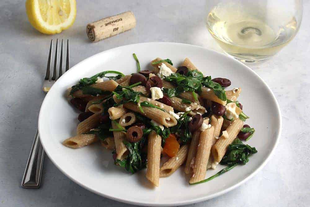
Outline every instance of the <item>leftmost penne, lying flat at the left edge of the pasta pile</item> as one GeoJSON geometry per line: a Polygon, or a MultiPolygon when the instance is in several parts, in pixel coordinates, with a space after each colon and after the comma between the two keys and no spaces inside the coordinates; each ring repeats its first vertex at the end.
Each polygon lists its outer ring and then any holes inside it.
{"type": "Polygon", "coordinates": [[[65,139],[62,144],[70,148],[80,148],[97,141],[99,141],[99,139],[95,134],[78,134],[75,137],[65,139]]]}

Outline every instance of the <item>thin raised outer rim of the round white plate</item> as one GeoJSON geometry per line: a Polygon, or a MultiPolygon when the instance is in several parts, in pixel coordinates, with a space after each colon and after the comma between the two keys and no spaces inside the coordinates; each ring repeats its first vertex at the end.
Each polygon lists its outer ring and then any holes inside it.
{"type": "MultiPolygon", "coordinates": [[[[269,152],[267,158],[259,165],[258,168],[256,168],[252,173],[250,173],[248,176],[246,176],[242,181],[240,181],[240,182],[236,183],[235,185],[233,185],[231,187],[228,187],[228,188],[226,188],[226,189],[224,189],[222,191],[219,191],[219,192],[216,192],[216,193],[213,193],[213,194],[210,194],[210,195],[202,196],[202,197],[196,198],[196,199],[185,200],[185,201],[175,201],[175,202],[172,202],[172,203],[171,202],[170,203],[160,203],[160,204],[149,203],[149,202],[145,202],[145,201],[137,202],[137,201],[133,201],[133,200],[122,199],[122,198],[118,198],[118,197],[115,197],[115,196],[104,194],[102,192],[95,191],[95,190],[91,189],[90,187],[87,187],[87,186],[83,185],[78,180],[72,178],[68,173],[64,172],[64,170],[56,163],[56,161],[51,158],[49,152],[46,151],[46,147],[44,146],[44,144],[42,144],[43,149],[44,149],[45,153],[47,154],[47,156],[49,157],[49,159],[51,160],[51,162],[60,170],[60,172],[62,172],[70,180],[72,180],[73,182],[75,182],[79,186],[87,189],[88,191],[91,191],[91,192],[93,192],[93,193],[95,193],[97,195],[109,198],[111,200],[116,200],[118,202],[123,202],[123,203],[133,204],[133,205],[140,205],[140,206],[146,206],[146,205],[148,205],[148,206],[176,206],[176,205],[188,205],[188,204],[198,203],[198,202],[201,202],[201,201],[209,200],[209,199],[215,198],[217,196],[223,195],[223,194],[225,194],[225,193],[227,193],[227,192],[229,192],[229,191],[231,191],[231,190],[241,186],[242,184],[247,182],[250,178],[254,177],[268,163],[268,161],[271,159],[275,149],[277,148],[277,146],[279,144],[279,141],[280,141],[280,138],[281,138],[281,133],[282,133],[282,115],[281,115],[281,110],[280,110],[280,106],[279,106],[279,103],[277,101],[277,98],[275,97],[274,93],[272,92],[272,90],[270,89],[268,84],[254,70],[252,70],[249,66],[241,63],[240,61],[232,58],[231,56],[228,56],[228,55],[225,55],[225,54],[220,53],[218,51],[211,50],[211,49],[208,49],[206,47],[202,47],[202,46],[198,46],[198,45],[192,45],[192,44],[186,44],[186,43],[175,43],[175,42],[146,42],[146,43],[135,43],[135,44],[129,44],[129,45],[113,47],[111,49],[108,49],[108,50],[96,53],[96,54],[94,54],[94,55],[92,55],[90,57],[87,57],[84,60],[78,62],[77,64],[72,66],[70,68],[70,70],[71,69],[74,70],[75,68],[78,68],[78,65],[82,64],[83,62],[87,61],[90,58],[94,58],[95,56],[99,56],[99,55],[102,55],[104,53],[108,53],[108,52],[110,52],[112,50],[119,50],[122,47],[131,47],[131,46],[134,46],[134,45],[141,45],[141,44],[170,44],[170,45],[185,45],[187,47],[197,47],[197,48],[206,50],[208,52],[217,53],[218,55],[223,56],[224,58],[228,58],[231,61],[235,61],[237,64],[241,65],[242,67],[246,67],[246,70],[249,70],[252,74],[254,74],[257,78],[259,78],[262,81],[262,83],[264,84],[264,86],[268,89],[268,92],[271,94],[272,100],[276,103],[277,112],[278,112],[277,119],[279,121],[278,132],[277,132],[277,135],[276,135],[276,142],[275,142],[274,146],[272,147],[271,151],[269,152]]],[[[66,75],[67,74],[64,73],[59,79],[62,79],[66,75]]],[[[53,90],[53,86],[51,87],[50,90],[53,90]]],[[[50,93],[47,93],[46,96],[44,97],[44,100],[43,100],[43,102],[41,104],[41,107],[40,107],[40,112],[39,112],[39,117],[38,117],[38,132],[39,132],[40,141],[41,141],[41,133],[40,133],[41,132],[41,130],[40,130],[41,129],[41,127],[40,127],[41,124],[40,123],[42,123],[40,120],[41,120],[41,116],[42,116],[42,108],[43,108],[43,106],[46,105],[46,100],[47,100],[46,97],[48,97],[49,94],[50,93]]]]}

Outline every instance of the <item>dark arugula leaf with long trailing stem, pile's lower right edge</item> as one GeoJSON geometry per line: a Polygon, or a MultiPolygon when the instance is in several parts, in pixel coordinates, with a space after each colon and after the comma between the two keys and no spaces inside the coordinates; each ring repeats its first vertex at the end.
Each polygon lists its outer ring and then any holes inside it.
{"type": "Polygon", "coordinates": [[[208,182],[213,178],[216,178],[219,175],[233,169],[238,164],[246,164],[249,161],[249,156],[255,153],[257,153],[255,147],[245,145],[237,138],[232,142],[232,144],[228,146],[228,149],[220,162],[220,164],[228,165],[228,167],[222,169],[221,171],[211,176],[210,178],[207,178],[200,182],[190,183],[190,185],[208,182]]]}

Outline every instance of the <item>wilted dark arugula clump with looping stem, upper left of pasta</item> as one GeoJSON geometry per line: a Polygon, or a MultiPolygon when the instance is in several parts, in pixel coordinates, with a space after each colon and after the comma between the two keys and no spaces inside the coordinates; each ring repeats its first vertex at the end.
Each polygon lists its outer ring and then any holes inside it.
{"type": "Polygon", "coordinates": [[[96,83],[96,81],[98,80],[98,77],[101,77],[101,78],[106,77],[110,80],[118,80],[118,79],[122,78],[123,76],[125,76],[125,75],[122,74],[121,72],[114,71],[114,70],[107,70],[107,71],[103,71],[101,73],[95,74],[94,76],[92,76],[90,78],[82,78],[82,79],[80,79],[78,84],[71,87],[70,95],[72,95],[74,92],[76,92],[78,90],[82,90],[83,94],[89,94],[92,96],[97,95],[97,94],[105,95],[106,94],[105,91],[102,91],[102,90],[97,89],[97,88],[93,88],[90,85],[96,83]],[[117,76],[105,76],[106,74],[117,74],[117,76]],[[103,93],[103,94],[101,94],[101,93],[103,93]]]}

